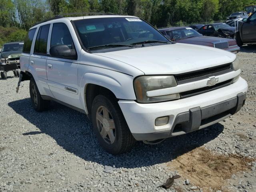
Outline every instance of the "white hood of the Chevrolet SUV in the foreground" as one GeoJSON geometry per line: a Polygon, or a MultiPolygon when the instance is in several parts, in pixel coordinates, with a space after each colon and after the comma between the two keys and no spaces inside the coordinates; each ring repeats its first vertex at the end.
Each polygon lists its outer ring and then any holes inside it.
{"type": "Polygon", "coordinates": [[[144,74],[180,74],[233,62],[235,54],[207,46],[168,44],[95,53],[112,58],[144,72],[144,74]]]}

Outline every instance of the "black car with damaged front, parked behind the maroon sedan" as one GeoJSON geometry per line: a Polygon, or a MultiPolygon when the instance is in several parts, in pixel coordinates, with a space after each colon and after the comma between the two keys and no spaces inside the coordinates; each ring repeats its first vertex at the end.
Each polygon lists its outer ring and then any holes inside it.
{"type": "Polygon", "coordinates": [[[208,24],[197,30],[199,33],[205,36],[234,38],[235,27],[231,27],[226,23],[213,23],[208,24]]]}

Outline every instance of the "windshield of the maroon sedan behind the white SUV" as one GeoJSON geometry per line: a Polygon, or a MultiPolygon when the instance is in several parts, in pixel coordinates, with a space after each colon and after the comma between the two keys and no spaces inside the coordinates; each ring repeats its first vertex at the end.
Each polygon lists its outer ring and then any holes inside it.
{"type": "Polygon", "coordinates": [[[174,30],[166,31],[166,33],[170,36],[172,41],[189,38],[189,37],[202,36],[200,33],[198,33],[196,30],[190,27],[174,29],[174,30]]]}

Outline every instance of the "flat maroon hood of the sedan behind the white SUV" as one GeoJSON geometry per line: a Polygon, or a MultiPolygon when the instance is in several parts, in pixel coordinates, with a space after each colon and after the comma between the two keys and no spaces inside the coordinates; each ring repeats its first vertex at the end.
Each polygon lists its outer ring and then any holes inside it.
{"type": "Polygon", "coordinates": [[[182,43],[190,43],[190,42],[205,42],[205,43],[215,43],[219,42],[220,40],[226,40],[228,42],[234,41],[233,39],[228,38],[219,38],[219,37],[212,37],[212,36],[198,36],[198,37],[190,37],[186,39],[177,40],[176,42],[182,42],[182,43]]]}

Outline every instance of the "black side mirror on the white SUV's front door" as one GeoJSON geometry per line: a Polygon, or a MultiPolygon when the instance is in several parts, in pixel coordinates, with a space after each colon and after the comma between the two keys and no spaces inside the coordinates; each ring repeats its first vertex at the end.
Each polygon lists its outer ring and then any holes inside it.
{"type": "Polygon", "coordinates": [[[55,45],[50,48],[50,55],[66,59],[77,59],[76,50],[70,49],[67,45],[55,45]]]}

